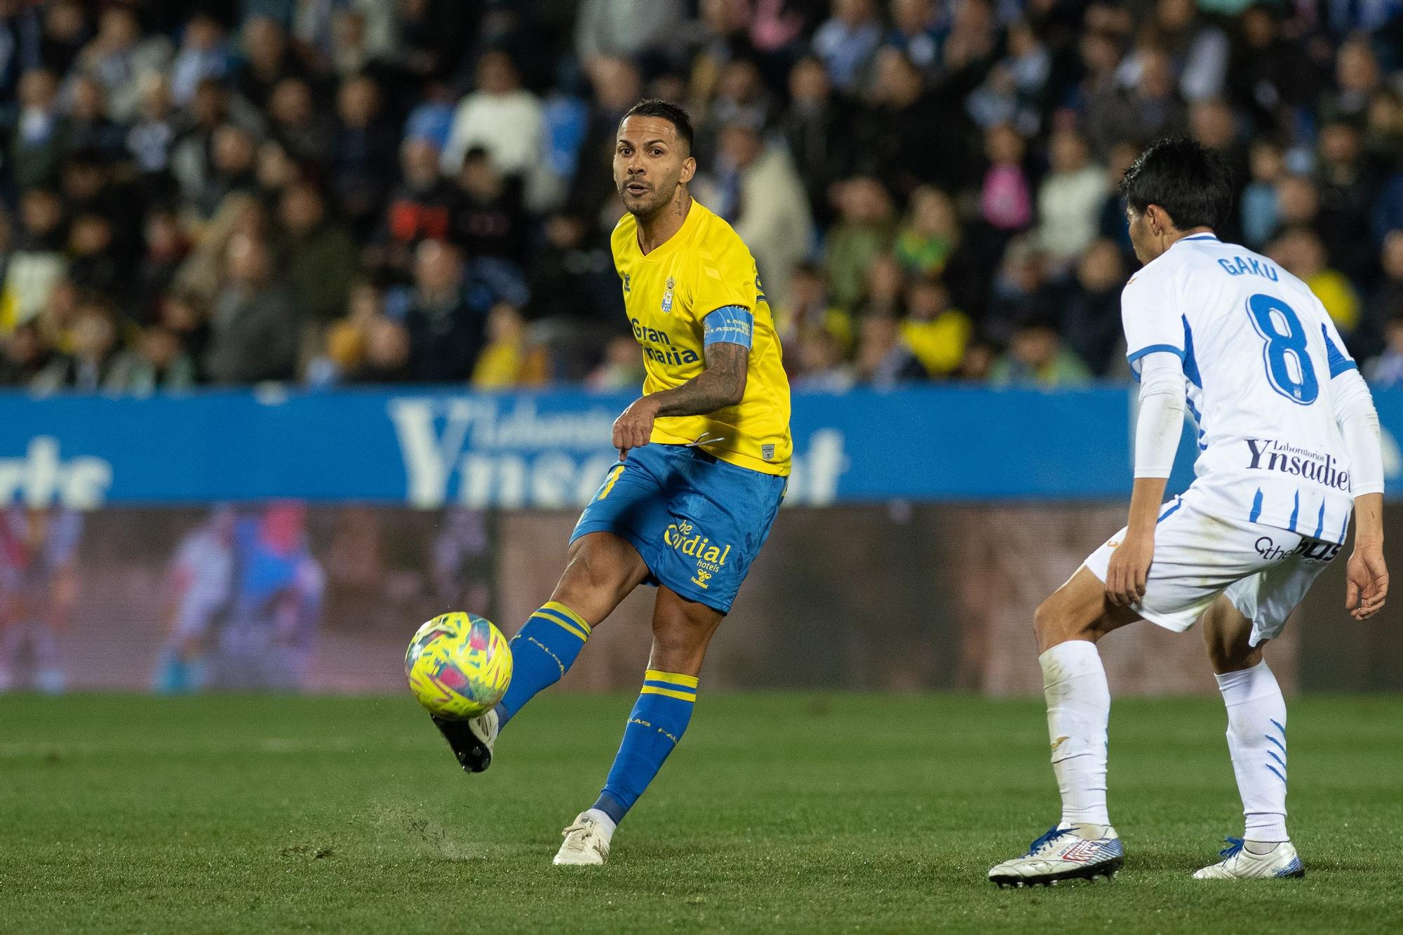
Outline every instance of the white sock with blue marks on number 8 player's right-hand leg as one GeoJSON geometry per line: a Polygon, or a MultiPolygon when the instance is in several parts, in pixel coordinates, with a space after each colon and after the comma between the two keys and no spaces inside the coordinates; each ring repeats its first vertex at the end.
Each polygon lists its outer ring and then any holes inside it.
{"type": "Polygon", "coordinates": [[[1228,752],[1247,818],[1247,841],[1289,841],[1287,834],[1287,701],[1261,661],[1216,675],[1228,705],[1228,752]]]}

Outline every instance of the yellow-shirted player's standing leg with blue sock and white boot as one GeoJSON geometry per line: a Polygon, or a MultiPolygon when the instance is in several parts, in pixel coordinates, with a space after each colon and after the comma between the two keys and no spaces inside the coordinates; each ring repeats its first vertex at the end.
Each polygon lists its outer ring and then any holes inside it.
{"type": "Polygon", "coordinates": [[[556,863],[603,863],[609,858],[615,828],[658,775],[692,720],[697,674],[721,619],[717,609],[689,601],[671,588],[658,588],[652,654],[638,701],[629,713],[623,743],[599,799],[565,828],[556,863]]]}

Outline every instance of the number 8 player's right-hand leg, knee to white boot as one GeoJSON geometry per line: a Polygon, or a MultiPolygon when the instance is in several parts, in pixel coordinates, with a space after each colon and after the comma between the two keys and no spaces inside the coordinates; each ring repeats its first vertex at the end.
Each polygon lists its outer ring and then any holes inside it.
{"type": "Polygon", "coordinates": [[[1275,675],[1251,646],[1251,621],[1226,597],[1204,614],[1204,639],[1218,688],[1228,706],[1228,752],[1232,754],[1246,828],[1228,838],[1223,859],[1195,879],[1305,876],[1287,834],[1287,702],[1275,675]]]}

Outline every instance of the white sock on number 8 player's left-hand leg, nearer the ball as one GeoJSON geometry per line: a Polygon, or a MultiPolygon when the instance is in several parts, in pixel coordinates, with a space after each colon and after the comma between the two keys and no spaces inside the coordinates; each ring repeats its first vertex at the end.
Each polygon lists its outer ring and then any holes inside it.
{"type": "Polygon", "coordinates": [[[1052,772],[1062,792],[1062,824],[1108,825],[1106,811],[1106,724],[1111,689],[1096,643],[1069,640],[1042,656],[1052,772]]]}

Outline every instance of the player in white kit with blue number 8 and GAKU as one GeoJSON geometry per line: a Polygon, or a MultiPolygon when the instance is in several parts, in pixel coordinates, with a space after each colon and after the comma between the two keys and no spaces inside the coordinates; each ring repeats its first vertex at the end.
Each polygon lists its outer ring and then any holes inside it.
{"type": "Polygon", "coordinates": [[[1287,834],[1287,708],[1261,647],[1344,545],[1345,609],[1374,616],[1388,592],[1379,421],[1330,316],[1303,282],[1221,243],[1232,190],[1193,140],[1146,149],[1121,181],[1143,268],[1121,317],[1141,382],[1129,522],[1034,615],[1062,818],[1000,886],[1103,877],[1125,851],[1106,807],[1110,692],[1096,643],[1149,621],[1202,619],[1228,706],[1228,750],[1246,831],[1198,879],[1302,876],[1287,834]],[[1186,404],[1197,479],[1162,503],[1186,404]]]}

